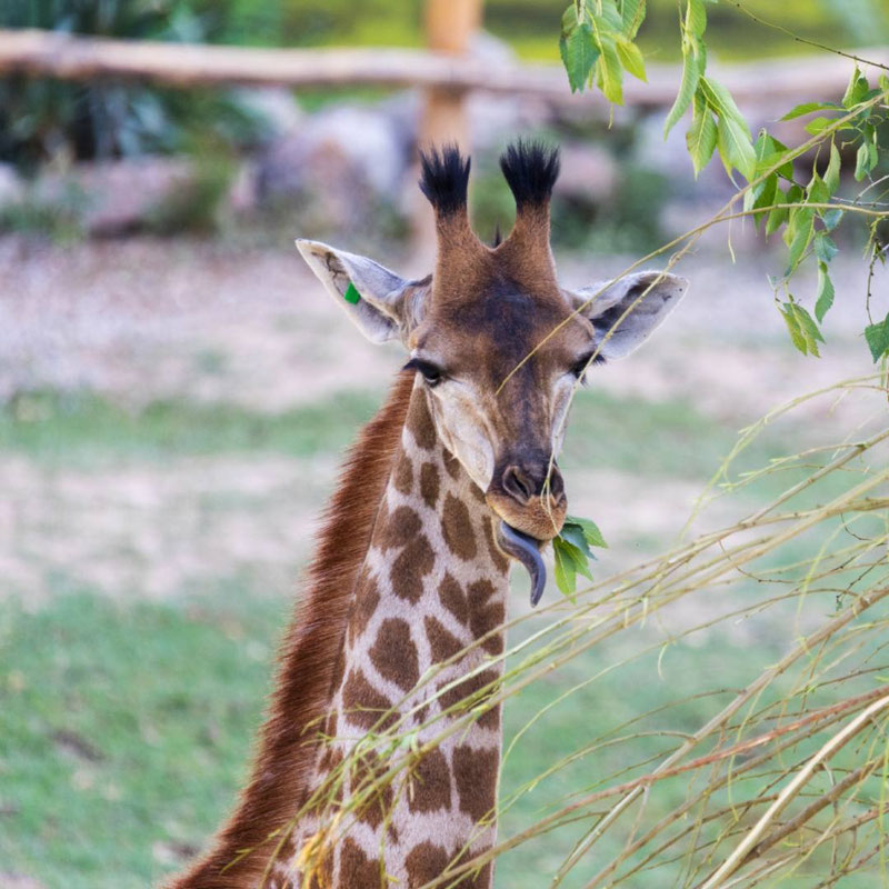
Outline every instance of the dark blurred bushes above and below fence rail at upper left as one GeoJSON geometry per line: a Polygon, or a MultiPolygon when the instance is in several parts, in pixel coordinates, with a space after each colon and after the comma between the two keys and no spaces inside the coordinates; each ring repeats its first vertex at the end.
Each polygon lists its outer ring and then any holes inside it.
{"type": "MultiPolygon", "coordinates": [[[[234,41],[237,9],[234,2],[202,7],[191,0],[9,0],[0,4],[0,27],[137,40],[234,41]]],[[[193,132],[216,134],[240,147],[261,136],[262,121],[233,94],[217,91],[0,78],[0,161],[24,169],[52,158],[181,150],[193,132]]]]}

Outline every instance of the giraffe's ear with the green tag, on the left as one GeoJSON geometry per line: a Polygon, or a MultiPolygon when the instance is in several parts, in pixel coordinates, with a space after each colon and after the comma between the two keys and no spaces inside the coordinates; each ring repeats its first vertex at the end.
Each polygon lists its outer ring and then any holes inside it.
{"type": "Polygon", "coordinates": [[[409,281],[367,257],[320,241],[297,240],[309,268],[371,342],[400,339],[422,319],[429,279],[409,281]]]}

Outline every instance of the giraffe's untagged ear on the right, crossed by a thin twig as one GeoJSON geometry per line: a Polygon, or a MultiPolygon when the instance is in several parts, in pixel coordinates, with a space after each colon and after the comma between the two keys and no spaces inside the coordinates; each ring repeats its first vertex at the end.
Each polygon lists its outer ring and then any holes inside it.
{"type": "Polygon", "coordinates": [[[687,291],[688,278],[666,271],[641,271],[610,283],[600,281],[563,292],[571,308],[592,321],[600,342],[599,354],[615,359],[638,349],[687,291]]]}

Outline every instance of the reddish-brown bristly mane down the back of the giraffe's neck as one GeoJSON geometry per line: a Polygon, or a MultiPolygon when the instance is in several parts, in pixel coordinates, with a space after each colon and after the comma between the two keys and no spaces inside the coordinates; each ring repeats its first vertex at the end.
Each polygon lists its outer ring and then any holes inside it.
{"type": "Polygon", "coordinates": [[[281,647],[278,681],[250,782],[211,851],[168,883],[169,889],[252,885],[280,841],[272,835],[304,802],[317,750],[316,743],[307,742],[304,730],[323,717],[330,701],[352,592],[400,444],[413,376],[398,376],[386,404],[361,431],[343,465],[318,535],[308,589],[281,647]],[[244,849],[252,851],[238,861],[244,849]]]}

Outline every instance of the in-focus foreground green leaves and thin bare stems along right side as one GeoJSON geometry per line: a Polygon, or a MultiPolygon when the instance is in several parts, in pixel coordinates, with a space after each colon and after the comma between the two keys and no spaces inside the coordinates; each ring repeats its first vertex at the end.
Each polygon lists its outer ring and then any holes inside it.
{"type": "MultiPolygon", "coordinates": [[[[839,102],[813,97],[812,101],[785,116],[785,120],[809,117],[805,130],[810,138],[788,148],[763,130],[753,141],[731,94],[707,70],[705,34],[708,16],[718,6],[718,0],[680,3],[683,72],[676,102],[667,116],[665,136],[689,114],[686,141],[696,174],[718,153],[728,176],[739,174],[747,184],[739,187],[735,197],[709,222],[655,254],[678,247],[668,264],[671,269],[707,228],[741,217],[751,217],[766,237],[780,233],[787,262],[783,272],[772,279],[775,300],[793,346],[803,354],[818,357],[825,341],[821,326],[836,298],[830,278],[830,263],[838,252],[835,230],[848,218],[865,219],[868,223],[871,272],[866,300],[868,312],[873,267],[885,261],[880,223],[889,217],[889,211],[883,209],[887,190],[885,178],[876,176],[875,171],[889,156],[885,126],[889,69],[871,63],[878,69],[878,76],[867,77],[859,67],[862,60],[853,59],[856,64],[839,102]],[[803,169],[806,171],[801,172],[803,169]],[[868,180],[852,199],[839,194],[843,173],[856,182],[868,180]],[[741,201],[742,209],[738,209],[741,201]],[[791,290],[796,273],[806,263],[817,268],[812,311],[791,290]]],[[[768,24],[750,13],[743,3],[725,6],[737,7],[756,21],[768,24]]],[[[602,34],[615,44],[621,39],[632,41],[635,32],[626,28],[626,22],[628,16],[636,14],[637,7],[632,0],[577,0],[569,7],[562,18],[560,48],[572,90],[595,84],[609,101],[621,101],[620,69],[636,73],[635,66],[615,67],[615,82],[609,83],[599,71],[606,47],[602,34]]],[[[883,361],[885,371],[889,359],[889,316],[881,320],[871,317],[863,334],[871,357],[883,361]]],[[[885,387],[885,376],[879,374],[827,391],[871,389],[882,399],[885,387]]],[[[820,628],[803,633],[777,665],[739,691],[726,709],[698,731],[686,735],[686,740],[672,752],[659,757],[657,768],[651,770],[648,762],[640,760],[638,768],[647,775],[621,783],[617,780],[626,776],[621,771],[610,779],[611,787],[597,782],[495,850],[506,851],[512,841],[526,842],[541,832],[567,828],[573,820],[581,819],[583,827],[577,833],[571,853],[558,868],[553,887],[561,885],[582,861],[589,861],[587,857],[592,846],[631,807],[638,811],[629,838],[617,855],[606,856],[587,886],[619,886],[643,878],[715,889],[723,885],[792,882],[799,877],[803,885],[818,879],[819,886],[832,886],[876,862],[885,868],[881,826],[887,812],[885,800],[889,780],[885,767],[889,695],[885,679],[875,677],[876,681],[865,686],[859,686],[859,680],[869,675],[876,663],[881,663],[885,647],[880,633],[886,630],[886,617],[880,602],[887,595],[885,549],[889,502],[876,493],[876,488],[887,478],[883,471],[875,468],[882,465],[880,458],[868,456],[861,465],[851,467],[859,455],[871,455],[875,448],[881,452],[889,430],[881,428],[856,443],[845,439],[833,447],[818,446],[805,455],[788,456],[770,468],[731,478],[728,470],[732,459],[765,424],[795,407],[797,404],[775,411],[757,428],[748,430],[715,482],[721,481],[728,491],[735,491],[770,471],[785,472],[791,468],[801,470],[799,480],[789,485],[771,505],[757,510],[732,530],[717,535],[720,552],[709,560],[705,558],[700,569],[703,575],[698,575],[695,565],[715,542],[716,538],[709,536],[692,542],[688,549],[673,551],[653,568],[652,575],[646,575],[648,568],[640,567],[645,590],[639,591],[635,602],[647,616],[652,602],[661,596],[669,597],[670,589],[681,597],[689,590],[700,589],[703,578],[703,582],[709,583],[723,577],[719,566],[728,559],[732,570],[765,585],[756,597],[757,609],[780,610],[779,602],[785,595],[778,592],[768,598],[767,592],[770,585],[777,583],[786,585],[787,593],[799,597],[798,616],[802,613],[803,600],[817,597],[819,591],[836,596],[835,612],[825,617],[820,628]],[[838,470],[851,470],[845,491],[837,496],[819,490],[838,470]],[[812,496],[816,499],[809,501],[812,496]],[[806,502],[800,502],[800,497],[806,502]],[[786,511],[776,513],[779,507],[786,511]],[[768,522],[770,529],[762,522],[768,522]],[[852,526],[859,531],[853,532],[852,526]],[[818,536],[811,539],[815,528],[820,529],[820,539],[818,536]],[[736,533],[748,531],[755,533],[728,543],[736,533]],[[807,538],[808,549],[803,542],[807,538]],[[783,556],[782,561],[770,562],[771,557],[779,555],[783,556]],[[766,562],[761,568],[752,571],[748,568],[751,561],[763,557],[766,562]],[[856,568],[849,571],[852,565],[856,568]],[[856,626],[862,611],[875,607],[876,613],[869,615],[855,630],[848,629],[856,626]],[[880,629],[871,633],[876,628],[880,629]],[[796,665],[805,660],[810,662],[799,671],[796,683],[789,689],[776,689],[779,677],[796,670],[796,665]],[[841,689],[838,697],[827,706],[813,707],[811,701],[820,699],[828,686],[841,689]],[[770,695],[767,689],[771,689],[770,695]],[[828,723],[822,722],[823,719],[828,723]],[[755,728],[757,723],[759,728],[755,728]],[[709,750],[685,766],[678,765],[710,736],[713,737],[709,750]],[[851,746],[850,740],[855,741],[851,746]],[[825,768],[830,769],[832,777],[820,785],[817,776],[825,768]],[[688,776],[688,789],[672,811],[657,813],[652,823],[645,812],[648,792],[655,782],[668,775],[688,776]],[[610,797],[616,798],[613,803],[608,802],[610,797]],[[600,803],[603,809],[599,808],[600,803]],[[831,817],[826,817],[826,811],[831,811],[831,817]],[[681,862],[678,871],[671,870],[676,862],[681,862]],[[805,882],[807,877],[808,883],[805,882]]],[[[882,420],[885,410],[881,408],[878,401],[876,416],[882,420]]],[[[861,433],[860,427],[856,433],[861,433]]],[[[557,571],[565,561],[559,555],[562,550],[563,543],[558,542],[557,571]]],[[[571,568],[576,570],[573,561],[571,568]]],[[[562,569],[566,587],[569,579],[565,578],[562,569]]],[[[631,579],[615,580],[618,590],[622,583],[633,583],[631,579]]],[[[603,590],[597,609],[616,595],[613,590],[606,591],[605,585],[593,583],[592,589],[603,590]]],[[[605,628],[609,620],[618,619],[626,625],[628,612],[612,618],[606,611],[593,620],[600,641],[607,638],[605,628]]],[[[613,631],[618,631],[617,627],[613,631]]],[[[572,646],[577,645],[578,640],[573,639],[572,646]]],[[[551,662],[557,656],[547,651],[546,659],[551,662]]],[[[878,667],[876,672],[879,675],[881,669],[878,667]]],[[[526,679],[523,676],[522,681],[526,679]]],[[[645,719],[637,717],[632,721],[643,723],[645,719]]],[[[632,743],[627,737],[618,740],[626,756],[632,743]]],[[[593,741],[587,750],[593,749],[596,743],[593,741]]],[[[585,880],[588,876],[585,875],[585,880]]]]}

